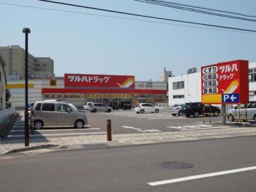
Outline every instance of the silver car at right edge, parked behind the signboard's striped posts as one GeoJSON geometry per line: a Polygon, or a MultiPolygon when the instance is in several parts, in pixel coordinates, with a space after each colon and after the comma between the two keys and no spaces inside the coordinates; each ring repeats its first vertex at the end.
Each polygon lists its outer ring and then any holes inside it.
{"type": "Polygon", "coordinates": [[[246,107],[247,107],[247,119],[256,121],[256,101],[250,102],[248,105],[237,105],[235,109],[229,109],[226,114],[228,114],[228,120],[234,121],[239,119],[239,111],[240,111],[240,119],[246,120],[246,107]],[[240,109],[239,109],[240,107],[240,109]]]}

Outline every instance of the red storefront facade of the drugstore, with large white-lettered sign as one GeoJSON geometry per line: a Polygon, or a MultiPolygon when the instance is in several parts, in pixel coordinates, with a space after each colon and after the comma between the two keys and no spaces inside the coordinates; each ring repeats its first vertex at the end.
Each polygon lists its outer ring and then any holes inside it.
{"type": "MultiPolygon", "coordinates": [[[[98,74],[65,74],[64,88],[43,88],[43,99],[80,100],[86,102],[117,103],[129,101],[137,103],[166,103],[167,87],[136,88],[134,76],[98,75],[98,74]]],[[[78,104],[77,104],[78,105],[78,104]]]]}

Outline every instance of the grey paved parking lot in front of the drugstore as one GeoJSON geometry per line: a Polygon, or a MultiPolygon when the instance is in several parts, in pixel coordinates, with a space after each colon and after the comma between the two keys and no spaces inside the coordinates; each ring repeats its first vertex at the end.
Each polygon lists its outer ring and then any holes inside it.
{"type": "MultiPolygon", "coordinates": [[[[113,134],[142,134],[169,131],[193,131],[237,127],[237,122],[222,125],[221,116],[186,118],[172,116],[170,109],[160,109],[159,114],[136,114],[134,110],[114,110],[110,113],[85,111],[89,125],[83,129],[74,127],[45,127],[34,130],[32,138],[58,138],[106,134],[107,120],[111,119],[113,134]],[[211,124],[210,124],[211,120],[211,124]]],[[[253,125],[249,125],[253,126],[253,125]]],[[[21,111],[6,139],[19,139],[24,136],[24,114],[21,111]]]]}

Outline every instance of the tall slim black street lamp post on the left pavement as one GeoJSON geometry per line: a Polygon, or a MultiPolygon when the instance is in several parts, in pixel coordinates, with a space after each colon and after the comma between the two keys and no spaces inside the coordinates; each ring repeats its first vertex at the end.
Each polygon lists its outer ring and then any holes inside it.
{"type": "Polygon", "coordinates": [[[30,28],[23,28],[25,33],[25,147],[30,145],[28,129],[28,34],[30,28]]]}

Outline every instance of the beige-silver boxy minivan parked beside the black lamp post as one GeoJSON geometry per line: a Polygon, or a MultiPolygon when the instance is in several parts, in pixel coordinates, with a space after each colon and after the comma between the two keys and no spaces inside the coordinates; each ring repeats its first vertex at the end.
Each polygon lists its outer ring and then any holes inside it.
{"type": "Polygon", "coordinates": [[[70,103],[36,101],[30,113],[30,125],[33,125],[35,129],[42,129],[46,126],[83,128],[87,125],[87,118],[84,111],[79,111],[70,103]]]}

